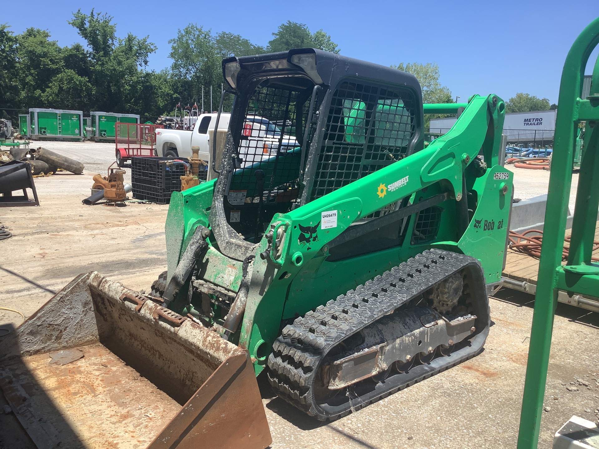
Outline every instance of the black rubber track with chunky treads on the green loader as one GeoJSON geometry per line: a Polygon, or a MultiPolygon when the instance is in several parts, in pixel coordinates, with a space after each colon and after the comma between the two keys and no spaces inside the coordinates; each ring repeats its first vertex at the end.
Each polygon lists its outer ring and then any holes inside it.
{"type": "MultiPolygon", "coordinates": [[[[426,250],[355,290],[297,318],[293,324],[285,326],[268,357],[268,380],[271,386],[283,399],[319,420],[348,414],[351,411],[349,405],[346,410],[331,415],[314,401],[311,386],[320,360],[343,339],[473,262],[478,263],[473,257],[463,254],[438,249],[426,250]]],[[[381,392],[376,399],[369,399],[361,405],[385,398],[474,355],[476,354],[462,357],[453,363],[452,360],[447,360],[447,366],[422,375],[418,380],[381,392]]],[[[356,408],[359,407],[351,407],[356,408]]]]}

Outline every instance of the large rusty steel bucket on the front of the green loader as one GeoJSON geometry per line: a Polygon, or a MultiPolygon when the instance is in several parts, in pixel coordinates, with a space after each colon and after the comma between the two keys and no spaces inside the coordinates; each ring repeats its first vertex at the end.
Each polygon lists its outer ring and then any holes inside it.
{"type": "Polygon", "coordinates": [[[0,387],[38,448],[259,448],[246,351],[97,272],[0,342],[0,387]]]}

